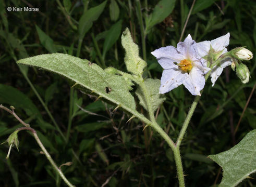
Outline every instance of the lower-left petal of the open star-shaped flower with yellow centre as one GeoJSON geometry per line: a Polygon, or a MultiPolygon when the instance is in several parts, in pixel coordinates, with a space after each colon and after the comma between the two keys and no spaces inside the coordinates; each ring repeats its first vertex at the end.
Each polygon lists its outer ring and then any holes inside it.
{"type": "Polygon", "coordinates": [[[187,73],[182,73],[178,68],[168,69],[163,71],[161,77],[161,86],[159,93],[166,93],[179,85],[188,77],[187,73]]]}

